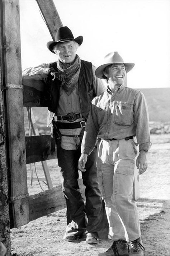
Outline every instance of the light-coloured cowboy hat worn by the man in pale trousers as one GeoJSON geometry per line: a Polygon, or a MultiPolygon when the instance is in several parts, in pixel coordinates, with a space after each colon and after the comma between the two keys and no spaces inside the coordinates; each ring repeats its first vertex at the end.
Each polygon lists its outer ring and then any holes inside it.
{"type": "Polygon", "coordinates": [[[98,78],[106,79],[105,75],[103,74],[104,69],[112,64],[124,64],[126,66],[126,73],[128,73],[134,67],[134,63],[126,63],[123,61],[122,57],[119,55],[118,52],[110,52],[104,57],[105,64],[99,66],[96,71],[95,75],[98,78]]]}

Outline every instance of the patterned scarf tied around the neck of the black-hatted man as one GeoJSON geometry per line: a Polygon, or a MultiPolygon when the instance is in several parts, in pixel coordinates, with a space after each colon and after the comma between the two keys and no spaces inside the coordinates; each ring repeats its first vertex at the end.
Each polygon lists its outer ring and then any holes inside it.
{"type": "Polygon", "coordinates": [[[62,87],[67,95],[70,95],[76,87],[80,74],[80,66],[81,60],[78,55],[76,55],[76,58],[70,67],[68,67],[68,64],[62,63],[60,60],[57,61],[58,72],[63,75],[64,82],[62,87]]]}

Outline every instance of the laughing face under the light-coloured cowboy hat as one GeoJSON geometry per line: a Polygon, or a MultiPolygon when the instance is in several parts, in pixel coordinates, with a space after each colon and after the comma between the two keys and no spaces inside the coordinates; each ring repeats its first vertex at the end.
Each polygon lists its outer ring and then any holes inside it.
{"type": "Polygon", "coordinates": [[[108,69],[107,78],[115,84],[122,84],[126,75],[126,67],[124,64],[113,64],[108,69]]]}

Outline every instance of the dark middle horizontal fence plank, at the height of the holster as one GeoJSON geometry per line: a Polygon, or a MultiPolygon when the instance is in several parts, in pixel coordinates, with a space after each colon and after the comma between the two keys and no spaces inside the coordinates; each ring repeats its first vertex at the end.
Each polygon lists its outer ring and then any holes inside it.
{"type": "Polygon", "coordinates": [[[51,152],[51,135],[25,136],[27,164],[57,158],[51,152]]]}

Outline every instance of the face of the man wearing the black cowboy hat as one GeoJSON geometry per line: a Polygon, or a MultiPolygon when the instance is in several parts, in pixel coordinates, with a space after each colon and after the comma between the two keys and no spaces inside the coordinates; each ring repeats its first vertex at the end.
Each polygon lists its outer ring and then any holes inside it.
{"type": "Polygon", "coordinates": [[[55,53],[58,59],[63,63],[71,63],[76,57],[76,46],[74,41],[58,43],[55,47],[55,53]]]}

